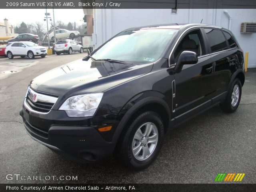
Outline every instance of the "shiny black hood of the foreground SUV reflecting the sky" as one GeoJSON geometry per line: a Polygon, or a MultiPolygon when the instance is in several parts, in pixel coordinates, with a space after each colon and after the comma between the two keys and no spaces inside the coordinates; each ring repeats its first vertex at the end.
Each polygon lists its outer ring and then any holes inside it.
{"type": "Polygon", "coordinates": [[[58,96],[103,92],[150,72],[152,67],[153,64],[120,64],[80,59],[41,74],[30,82],[30,87],[58,96]]]}

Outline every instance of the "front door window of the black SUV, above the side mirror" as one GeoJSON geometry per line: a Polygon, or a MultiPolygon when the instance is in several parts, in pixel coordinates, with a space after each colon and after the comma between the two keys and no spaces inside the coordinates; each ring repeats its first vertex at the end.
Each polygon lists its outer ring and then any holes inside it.
{"type": "Polygon", "coordinates": [[[184,38],[182,38],[174,52],[175,62],[177,62],[180,54],[183,51],[193,51],[197,54],[197,56],[202,56],[205,54],[202,35],[199,29],[189,32],[186,34],[186,36],[184,36],[184,38]]]}

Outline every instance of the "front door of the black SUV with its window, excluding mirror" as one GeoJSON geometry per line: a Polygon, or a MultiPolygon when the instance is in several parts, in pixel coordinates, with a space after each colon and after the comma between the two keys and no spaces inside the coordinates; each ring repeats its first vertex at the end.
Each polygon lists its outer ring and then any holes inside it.
{"type": "Polygon", "coordinates": [[[211,104],[210,99],[214,93],[214,63],[207,54],[208,48],[204,40],[201,29],[190,30],[182,36],[172,53],[172,63],[176,63],[185,50],[196,52],[198,56],[197,64],[184,65],[179,73],[174,71],[173,115],[176,123],[211,104]]]}

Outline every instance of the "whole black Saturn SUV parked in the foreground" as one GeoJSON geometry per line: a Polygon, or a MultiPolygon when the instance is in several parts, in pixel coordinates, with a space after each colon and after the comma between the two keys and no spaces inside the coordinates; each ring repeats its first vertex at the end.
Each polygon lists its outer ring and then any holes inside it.
{"type": "Polygon", "coordinates": [[[221,27],[130,28],[32,80],[20,115],[34,140],[72,160],[113,154],[142,169],[168,129],[218,104],[224,112],[238,108],[243,61],[232,32],[221,27]]]}

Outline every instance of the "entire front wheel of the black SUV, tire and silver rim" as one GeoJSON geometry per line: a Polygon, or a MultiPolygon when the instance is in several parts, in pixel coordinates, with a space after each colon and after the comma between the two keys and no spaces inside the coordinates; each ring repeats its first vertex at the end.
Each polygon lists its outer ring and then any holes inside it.
{"type": "Polygon", "coordinates": [[[124,166],[142,170],[156,159],[163,141],[164,125],[161,117],[153,111],[144,112],[132,120],[127,130],[121,134],[114,157],[124,166]],[[146,127],[150,128],[150,126],[152,130],[146,135],[146,127]],[[152,143],[148,143],[153,136],[152,143]]]}

